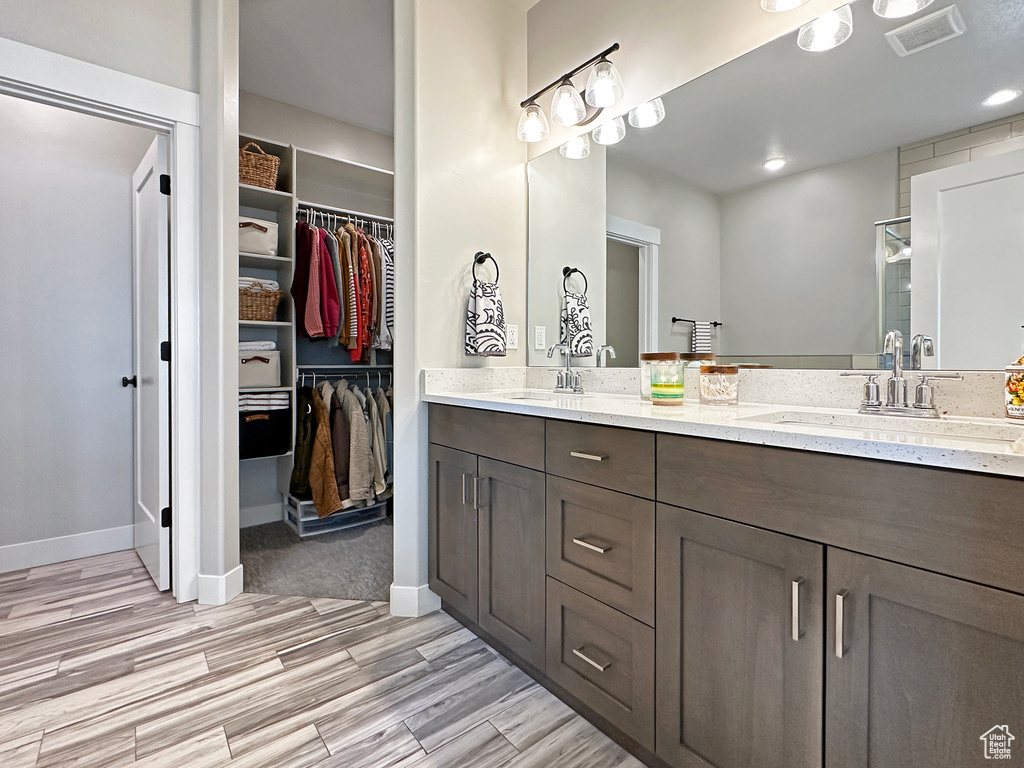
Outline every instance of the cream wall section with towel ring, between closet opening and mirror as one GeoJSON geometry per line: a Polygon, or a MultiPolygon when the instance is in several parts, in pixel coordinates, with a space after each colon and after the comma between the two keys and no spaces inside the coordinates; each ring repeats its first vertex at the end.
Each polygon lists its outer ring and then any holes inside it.
{"type": "Polygon", "coordinates": [[[421,370],[523,365],[466,358],[473,254],[501,263],[506,318],[526,315],[526,13],[500,0],[394,0],[395,473],[392,611],[437,605],[427,581],[426,407],[421,370]],[[406,319],[402,319],[402,318],[406,319]]]}

